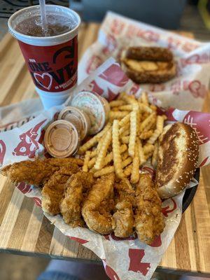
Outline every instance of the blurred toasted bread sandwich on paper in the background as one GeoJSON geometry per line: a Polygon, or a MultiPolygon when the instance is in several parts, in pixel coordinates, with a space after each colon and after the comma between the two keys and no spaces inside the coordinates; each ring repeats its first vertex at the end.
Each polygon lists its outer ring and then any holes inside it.
{"type": "Polygon", "coordinates": [[[135,83],[163,83],[176,76],[173,54],[167,48],[130,47],[122,52],[120,62],[135,83]]]}

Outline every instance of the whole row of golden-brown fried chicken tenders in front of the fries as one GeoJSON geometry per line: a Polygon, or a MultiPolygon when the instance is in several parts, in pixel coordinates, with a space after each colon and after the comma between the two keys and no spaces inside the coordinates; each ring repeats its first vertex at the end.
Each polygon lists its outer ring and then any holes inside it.
{"type": "Polygon", "coordinates": [[[149,174],[140,174],[139,183],[128,179],[116,182],[114,173],[94,178],[81,171],[82,160],[50,158],[26,160],[4,167],[1,174],[14,183],[30,183],[41,189],[42,208],[48,214],[62,214],[75,228],[116,237],[130,237],[151,244],[164,230],[161,200],[149,174]]]}

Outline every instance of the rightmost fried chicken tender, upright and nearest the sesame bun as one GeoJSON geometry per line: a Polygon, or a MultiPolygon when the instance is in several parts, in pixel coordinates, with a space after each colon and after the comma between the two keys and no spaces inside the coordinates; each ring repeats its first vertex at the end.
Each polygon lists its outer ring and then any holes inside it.
{"type": "Polygon", "coordinates": [[[139,240],[151,244],[164,230],[161,200],[149,174],[140,174],[136,190],[135,226],[139,240]]]}

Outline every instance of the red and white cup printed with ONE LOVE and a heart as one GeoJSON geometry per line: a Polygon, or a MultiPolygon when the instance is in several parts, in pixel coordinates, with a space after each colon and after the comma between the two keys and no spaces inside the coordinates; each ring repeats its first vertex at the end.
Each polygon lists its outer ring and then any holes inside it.
{"type": "Polygon", "coordinates": [[[18,39],[31,77],[43,106],[60,105],[76,86],[78,76],[79,15],[69,8],[46,5],[46,13],[69,18],[72,29],[64,34],[37,37],[21,34],[15,27],[30,16],[40,15],[39,6],[30,6],[14,13],[8,20],[10,33],[18,39]]]}

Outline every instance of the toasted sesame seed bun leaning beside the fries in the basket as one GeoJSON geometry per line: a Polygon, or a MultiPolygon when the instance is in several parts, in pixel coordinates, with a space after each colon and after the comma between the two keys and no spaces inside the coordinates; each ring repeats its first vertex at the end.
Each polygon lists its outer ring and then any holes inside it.
{"type": "Polygon", "coordinates": [[[184,123],[165,127],[160,135],[155,186],[162,199],[178,195],[188,186],[197,167],[199,142],[195,130],[184,123]]]}

